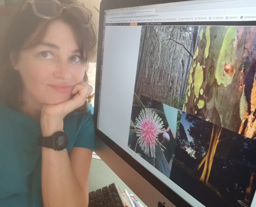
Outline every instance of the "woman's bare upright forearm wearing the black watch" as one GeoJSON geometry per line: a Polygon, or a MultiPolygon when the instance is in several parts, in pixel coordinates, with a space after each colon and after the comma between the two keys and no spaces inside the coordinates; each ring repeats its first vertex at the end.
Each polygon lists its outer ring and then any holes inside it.
{"type": "MultiPolygon", "coordinates": [[[[48,119],[49,120],[49,119],[48,119]]],[[[42,135],[63,131],[63,121],[41,123],[42,135]]],[[[42,196],[45,207],[79,207],[88,205],[88,193],[83,191],[72,170],[67,150],[55,151],[42,147],[42,196]]]]}

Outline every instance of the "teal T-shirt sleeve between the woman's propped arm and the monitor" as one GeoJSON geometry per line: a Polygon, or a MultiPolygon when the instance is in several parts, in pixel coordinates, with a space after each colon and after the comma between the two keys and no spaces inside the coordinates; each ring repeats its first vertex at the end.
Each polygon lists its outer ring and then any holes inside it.
{"type": "Polygon", "coordinates": [[[76,142],[73,147],[83,147],[87,149],[94,149],[94,119],[93,119],[93,107],[88,105],[87,113],[84,116],[83,123],[80,131],[76,137],[76,142]]]}

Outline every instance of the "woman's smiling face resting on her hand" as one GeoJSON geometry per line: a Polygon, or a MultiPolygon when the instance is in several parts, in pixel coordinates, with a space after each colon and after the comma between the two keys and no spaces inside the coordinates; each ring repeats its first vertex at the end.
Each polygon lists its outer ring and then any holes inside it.
{"type": "Polygon", "coordinates": [[[20,71],[24,83],[25,103],[65,102],[71,98],[73,86],[81,82],[85,74],[75,33],[59,20],[51,22],[39,45],[21,50],[13,66],[20,71]]]}

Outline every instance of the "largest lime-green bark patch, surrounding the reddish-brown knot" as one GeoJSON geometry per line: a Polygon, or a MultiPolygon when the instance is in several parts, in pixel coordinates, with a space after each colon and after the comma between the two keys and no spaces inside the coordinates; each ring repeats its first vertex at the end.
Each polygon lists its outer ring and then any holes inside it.
{"type": "MultiPolygon", "coordinates": [[[[222,42],[218,63],[216,67],[215,78],[218,84],[223,84],[224,87],[231,84],[233,76],[225,75],[224,66],[225,64],[234,64],[236,57],[236,46],[237,46],[237,31],[236,27],[229,27],[222,42]]],[[[235,73],[235,71],[234,71],[235,73]]]]}

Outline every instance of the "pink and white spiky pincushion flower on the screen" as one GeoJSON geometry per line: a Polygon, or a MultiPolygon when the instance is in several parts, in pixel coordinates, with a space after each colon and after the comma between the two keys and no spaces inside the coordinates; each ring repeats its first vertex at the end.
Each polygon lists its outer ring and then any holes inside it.
{"type": "Polygon", "coordinates": [[[163,121],[157,113],[150,109],[141,110],[136,119],[136,135],[142,151],[151,157],[155,157],[155,145],[157,145],[157,136],[163,133],[163,121]],[[150,154],[150,155],[149,155],[150,154]]]}

